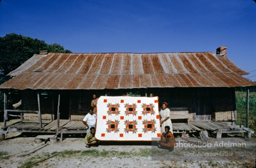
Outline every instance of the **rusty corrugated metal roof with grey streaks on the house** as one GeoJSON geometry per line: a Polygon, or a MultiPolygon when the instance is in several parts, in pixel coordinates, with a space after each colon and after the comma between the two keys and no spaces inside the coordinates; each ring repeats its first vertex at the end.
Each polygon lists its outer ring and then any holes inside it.
{"type": "Polygon", "coordinates": [[[35,54],[1,89],[131,89],[255,85],[214,53],[35,54]]]}

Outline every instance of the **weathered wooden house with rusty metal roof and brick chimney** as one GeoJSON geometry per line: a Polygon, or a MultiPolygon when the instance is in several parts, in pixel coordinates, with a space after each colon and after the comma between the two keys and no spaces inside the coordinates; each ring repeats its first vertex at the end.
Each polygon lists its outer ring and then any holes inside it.
{"type": "MultiPolygon", "coordinates": [[[[0,89],[18,90],[22,97],[20,110],[5,104],[5,119],[9,112],[21,112],[22,119],[36,117],[38,131],[55,119],[80,121],[90,108],[93,94],[153,93],[159,96],[160,104],[168,102],[172,111],[187,111],[185,119],[189,121],[235,121],[235,87],[255,85],[242,77],[246,74],[228,59],[226,47],[219,47],[216,54],[48,53],[35,54],[10,72],[13,78],[0,89]]],[[[52,130],[64,130],[65,122],[52,130]]],[[[73,126],[78,130],[83,125],[73,126]]]]}

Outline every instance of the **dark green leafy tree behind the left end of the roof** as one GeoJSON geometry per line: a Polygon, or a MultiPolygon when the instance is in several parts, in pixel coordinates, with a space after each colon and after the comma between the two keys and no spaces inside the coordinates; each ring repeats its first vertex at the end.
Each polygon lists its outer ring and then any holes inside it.
{"type": "Polygon", "coordinates": [[[23,64],[39,51],[51,53],[71,53],[63,46],[54,43],[48,45],[43,40],[33,39],[16,33],[9,33],[0,37],[0,83],[9,79],[6,75],[23,64]]]}

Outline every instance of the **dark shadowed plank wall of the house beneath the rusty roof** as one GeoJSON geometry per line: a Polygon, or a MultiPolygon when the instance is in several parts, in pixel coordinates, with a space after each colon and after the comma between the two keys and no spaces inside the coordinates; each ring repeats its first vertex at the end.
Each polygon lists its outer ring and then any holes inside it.
{"type": "MultiPolygon", "coordinates": [[[[52,110],[57,112],[58,91],[47,91],[49,95],[41,95],[42,114],[51,114],[52,110]],[[53,103],[54,102],[54,103],[53,103]],[[54,104],[54,107],[53,107],[54,104]]],[[[187,107],[193,121],[215,120],[218,112],[231,112],[236,110],[234,88],[151,88],[151,89],[108,89],[95,91],[61,91],[68,92],[70,116],[77,116],[78,120],[87,114],[90,109],[91,97],[101,95],[122,95],[122,93],[138,93],[147,96],[153,93],[159,96],[159,108],[163,102],[168,102],[168,107],[187,107]]],[[[22,91],[22,106],[24,110],[38,110],[36,91],[22,91]]],[[[219,113],[220,114],[220,113],[219,113]]],[[[75,118],[75,117],[73,117],[75,118]]]]}

